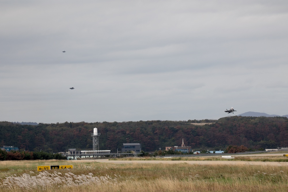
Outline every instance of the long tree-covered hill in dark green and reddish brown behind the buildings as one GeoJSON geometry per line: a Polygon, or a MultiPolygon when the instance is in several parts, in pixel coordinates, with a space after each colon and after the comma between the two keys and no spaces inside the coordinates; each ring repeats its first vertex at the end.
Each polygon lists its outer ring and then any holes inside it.
{"type": "Polygon", "coordinates": [[[181,146],[192,149],[225,149],[244,145],[252,149],[288,146],[287,117],[225,117],[218,120],[65,122],[37,126],[0,122],[0,142],[22,150],[47,152],[92,150],[93,128],[98,128],[99,149],[116,152],[123,143],[141,143],[144,151],[181,146]],[[203,126],[194,123],[212,122],[203,126]]]}

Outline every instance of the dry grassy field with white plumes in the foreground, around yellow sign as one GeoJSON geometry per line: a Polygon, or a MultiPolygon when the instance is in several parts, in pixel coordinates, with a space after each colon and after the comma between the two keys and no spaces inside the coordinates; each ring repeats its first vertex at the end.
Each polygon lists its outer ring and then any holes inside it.
{"type": "MultiPolygon", "coordinates": [[[[111,161],[113,162],[113,161],[111,161]]],[[[287,191],[287,166],[0,161],[0,191],[287,191]],[[37,172],[37,165],[73,164],[37,172]]]]}

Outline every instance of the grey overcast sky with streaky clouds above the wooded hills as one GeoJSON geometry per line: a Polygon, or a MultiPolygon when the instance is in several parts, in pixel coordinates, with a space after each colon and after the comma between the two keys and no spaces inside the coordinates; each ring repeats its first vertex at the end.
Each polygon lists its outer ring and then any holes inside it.
{"type": "Polygon", "coordinates": [[[287,21],[287,0],[1,0],[0,121],[287,115],[287,21]]]}

